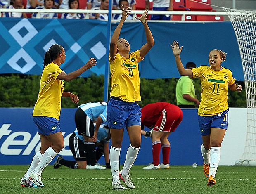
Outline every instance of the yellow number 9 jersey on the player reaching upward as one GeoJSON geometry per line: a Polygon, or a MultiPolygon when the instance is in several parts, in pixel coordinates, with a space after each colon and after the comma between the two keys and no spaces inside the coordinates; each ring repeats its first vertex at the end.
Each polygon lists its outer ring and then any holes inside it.
{"type": "Polygon", "coordinates": [[[138,62],[143,60],[140,50],[131,52],[129,59],[117,53],[114,59],[109,56],[111,73],[110,96],[126,102],[140,101],[140,75],[138,62]]]}

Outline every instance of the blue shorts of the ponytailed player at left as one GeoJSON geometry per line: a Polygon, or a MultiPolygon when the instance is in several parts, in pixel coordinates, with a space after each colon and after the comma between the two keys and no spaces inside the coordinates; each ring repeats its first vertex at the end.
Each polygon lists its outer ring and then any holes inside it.
{"type": "Polygon", "coordinates": [[[50,135],[61,132],[59,121],[56,118],[47,116],[33,116],[33,121],[38,126],[38,133],[43,135],[50,135]]]}

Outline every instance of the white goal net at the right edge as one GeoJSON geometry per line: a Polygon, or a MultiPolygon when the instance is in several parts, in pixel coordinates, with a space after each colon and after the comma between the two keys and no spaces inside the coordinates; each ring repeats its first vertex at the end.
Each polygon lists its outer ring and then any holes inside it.
{"type": "Polygon", "coordinates": [[[237,37],[247,99],[247,135],[239,166],[256,166],[256,11],[224,8],[237,37]]]}

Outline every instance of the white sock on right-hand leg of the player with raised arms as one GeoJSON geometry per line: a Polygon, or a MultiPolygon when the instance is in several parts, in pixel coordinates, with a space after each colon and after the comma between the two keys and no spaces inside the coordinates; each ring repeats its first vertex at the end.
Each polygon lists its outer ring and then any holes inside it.
{"type": "Polygon", "coordinates": [[[122,175],[129,174],[129,170],[130,168],[132,168],[133,163],[137,158],[139,150],[140,150],[140,147],[133,147],[132,145],[130,145],[126,153],[126,161],[124,162],[124,165],[123,165],[122,175]]]}

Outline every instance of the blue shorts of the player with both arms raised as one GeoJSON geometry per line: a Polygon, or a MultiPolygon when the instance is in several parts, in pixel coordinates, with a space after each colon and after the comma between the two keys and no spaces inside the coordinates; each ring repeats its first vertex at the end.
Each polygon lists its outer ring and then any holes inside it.
{"type": "Polygon", "coordinates": [[[141,126],[140,117],[140,106],[136,102],[124,102],[110,98],[107,104],[107,119],[111,129],[141,126]]]}

